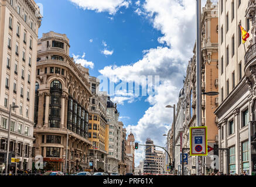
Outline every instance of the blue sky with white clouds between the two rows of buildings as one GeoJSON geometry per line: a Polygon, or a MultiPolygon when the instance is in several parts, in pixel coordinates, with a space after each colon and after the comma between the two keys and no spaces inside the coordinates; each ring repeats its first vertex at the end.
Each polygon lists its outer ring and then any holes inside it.
{"type": "MultiPolygon", "coordinates": [[[[101,80],[135,141],[165,147],[196,42],[196,0],[35,0],[39,38],[66,34],[70,56],[101,80]]],[[[213,2],[216,3],[216,0],[213,2]]],[[[206,0],[202,0],[202,6],[206,0]]],[[[145,157],[135,150],[135,166],[145,157]]]]}

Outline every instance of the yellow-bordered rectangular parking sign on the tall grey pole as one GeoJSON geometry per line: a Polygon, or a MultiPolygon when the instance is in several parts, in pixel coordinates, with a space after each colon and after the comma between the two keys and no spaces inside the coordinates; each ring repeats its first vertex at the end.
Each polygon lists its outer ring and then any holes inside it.
{"type": "Polygon", "coordinates": [[[206,156],[207,151],[207,127],[190,127],[190,155],[206,156]]]}

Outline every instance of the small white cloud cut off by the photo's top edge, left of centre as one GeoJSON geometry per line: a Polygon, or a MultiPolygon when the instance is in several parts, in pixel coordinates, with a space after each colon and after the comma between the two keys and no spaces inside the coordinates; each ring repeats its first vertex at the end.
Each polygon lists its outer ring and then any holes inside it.
{"type": "Polygon", "coordinates": [[[86,10],[92,10],[96,12],[108,12],[110,15],[117,13],[121,7],[128,8],[131,1],[127,0],[69,0],[86,10]]]}

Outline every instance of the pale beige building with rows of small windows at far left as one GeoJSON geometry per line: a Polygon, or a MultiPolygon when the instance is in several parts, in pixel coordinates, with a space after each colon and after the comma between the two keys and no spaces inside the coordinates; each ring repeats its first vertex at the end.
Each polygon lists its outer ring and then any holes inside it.
{"type": "Polygon", "coordinates": [[[5,167],[9,106],[11,157],[19,159],[9,168],[32,169],[34,93],[37,34],[42,16],[33,0],[0,0],[0,173],[5,167]]]}

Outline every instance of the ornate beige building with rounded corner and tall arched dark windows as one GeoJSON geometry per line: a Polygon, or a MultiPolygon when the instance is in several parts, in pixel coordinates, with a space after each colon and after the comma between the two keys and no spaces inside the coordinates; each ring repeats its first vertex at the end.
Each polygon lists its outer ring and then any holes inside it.
{"type": "Polygon", "coordinates": [[[89,168],[89,74],[69,48],[66,34],[43,33],[38,41],[33,157],[42,155],[46,170],[65,172],[66,150],[67,172],[89,168]]]}

